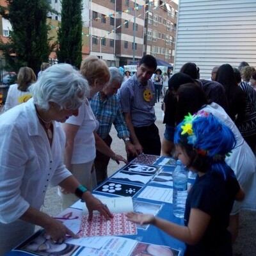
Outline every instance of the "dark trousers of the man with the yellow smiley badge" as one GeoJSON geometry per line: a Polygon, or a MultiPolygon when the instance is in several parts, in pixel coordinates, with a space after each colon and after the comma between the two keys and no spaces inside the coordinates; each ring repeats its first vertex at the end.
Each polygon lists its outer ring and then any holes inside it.
{"type": "MultiPolygon", "coordinates": [[[[148,155],[160,156],[161,154],[161,140],[159,136],[158,128],[155,124],[134,127],[135,134],[143,147],[143,153],[148,155]]],[[[129,157],[128,161],[131,161],[135,157],[129,157]]]]}

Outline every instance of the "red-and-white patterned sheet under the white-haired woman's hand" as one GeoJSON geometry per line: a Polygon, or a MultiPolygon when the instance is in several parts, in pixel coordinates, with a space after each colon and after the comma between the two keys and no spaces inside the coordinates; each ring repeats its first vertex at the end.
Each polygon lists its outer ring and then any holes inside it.
{"type": "Polygon", "coordinates": [[[106,220],[101,214],[94,214],[92,221],[88,221],[88,215],[83,215],[79,236],[122,236],[136,235],[136,224],[127,220],[125,213],[114,213],[114,218],[106,220]]]}

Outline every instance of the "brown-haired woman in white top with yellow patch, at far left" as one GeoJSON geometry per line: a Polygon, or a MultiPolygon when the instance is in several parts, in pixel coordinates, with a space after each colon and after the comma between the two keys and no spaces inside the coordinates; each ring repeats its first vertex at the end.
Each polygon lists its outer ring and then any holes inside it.
{"type": "Polygon", "coordinates": [[[32,97],[28,88],[36,81],[36,75],[33,69],[29,67],[21,67],[17,79],[18,81],[16,84],[10,85],[4,105],[4,111],[7,111],[20,103],[26,102],[32,97]]]}

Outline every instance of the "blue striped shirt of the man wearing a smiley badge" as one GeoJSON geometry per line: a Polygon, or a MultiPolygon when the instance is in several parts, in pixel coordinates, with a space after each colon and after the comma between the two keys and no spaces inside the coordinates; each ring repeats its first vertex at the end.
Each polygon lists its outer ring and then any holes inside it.
{"type": "Polygon", "coordinates": [[[148,126],[156,121],[155,115],[155,89],[154,83],[149,79],[147,86],[143,86],[138,81],[136,74],[125,81],[118,95],[120,97],[121,108],[124,113],[131,113],[134,127],[148,126]],[[152,92],[152,99],[147,102],[143,93],[148,89],[152,92]]]}

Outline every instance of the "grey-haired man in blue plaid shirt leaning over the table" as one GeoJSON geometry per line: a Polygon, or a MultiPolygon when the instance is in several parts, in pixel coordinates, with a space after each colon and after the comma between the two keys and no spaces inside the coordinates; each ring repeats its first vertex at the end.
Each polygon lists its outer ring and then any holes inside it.
{"type": "MultiPolygon", "coordinates": [[[[130,132],[127,129],[127,125],[125,124],[124,116],[120,108],[120,100],[118,95],[116,95],[124,77],[118,68],[111,67],[109,68],[109,72],[110,79],[108,84],[106,84],[103,90],[96,93],[90,100],[90,106],[93,114],[99,121],[97,134],[110,147],[112,138],[109,135],[109,132],[112,124],[114,124],[118,138],[124,140],[127,155],[136,156],[137,152],[130,141],[130,132]]],[[[108,177],[108,163],[109,157],[97,151],[94,164],[98,184],[108,177]]]]}

